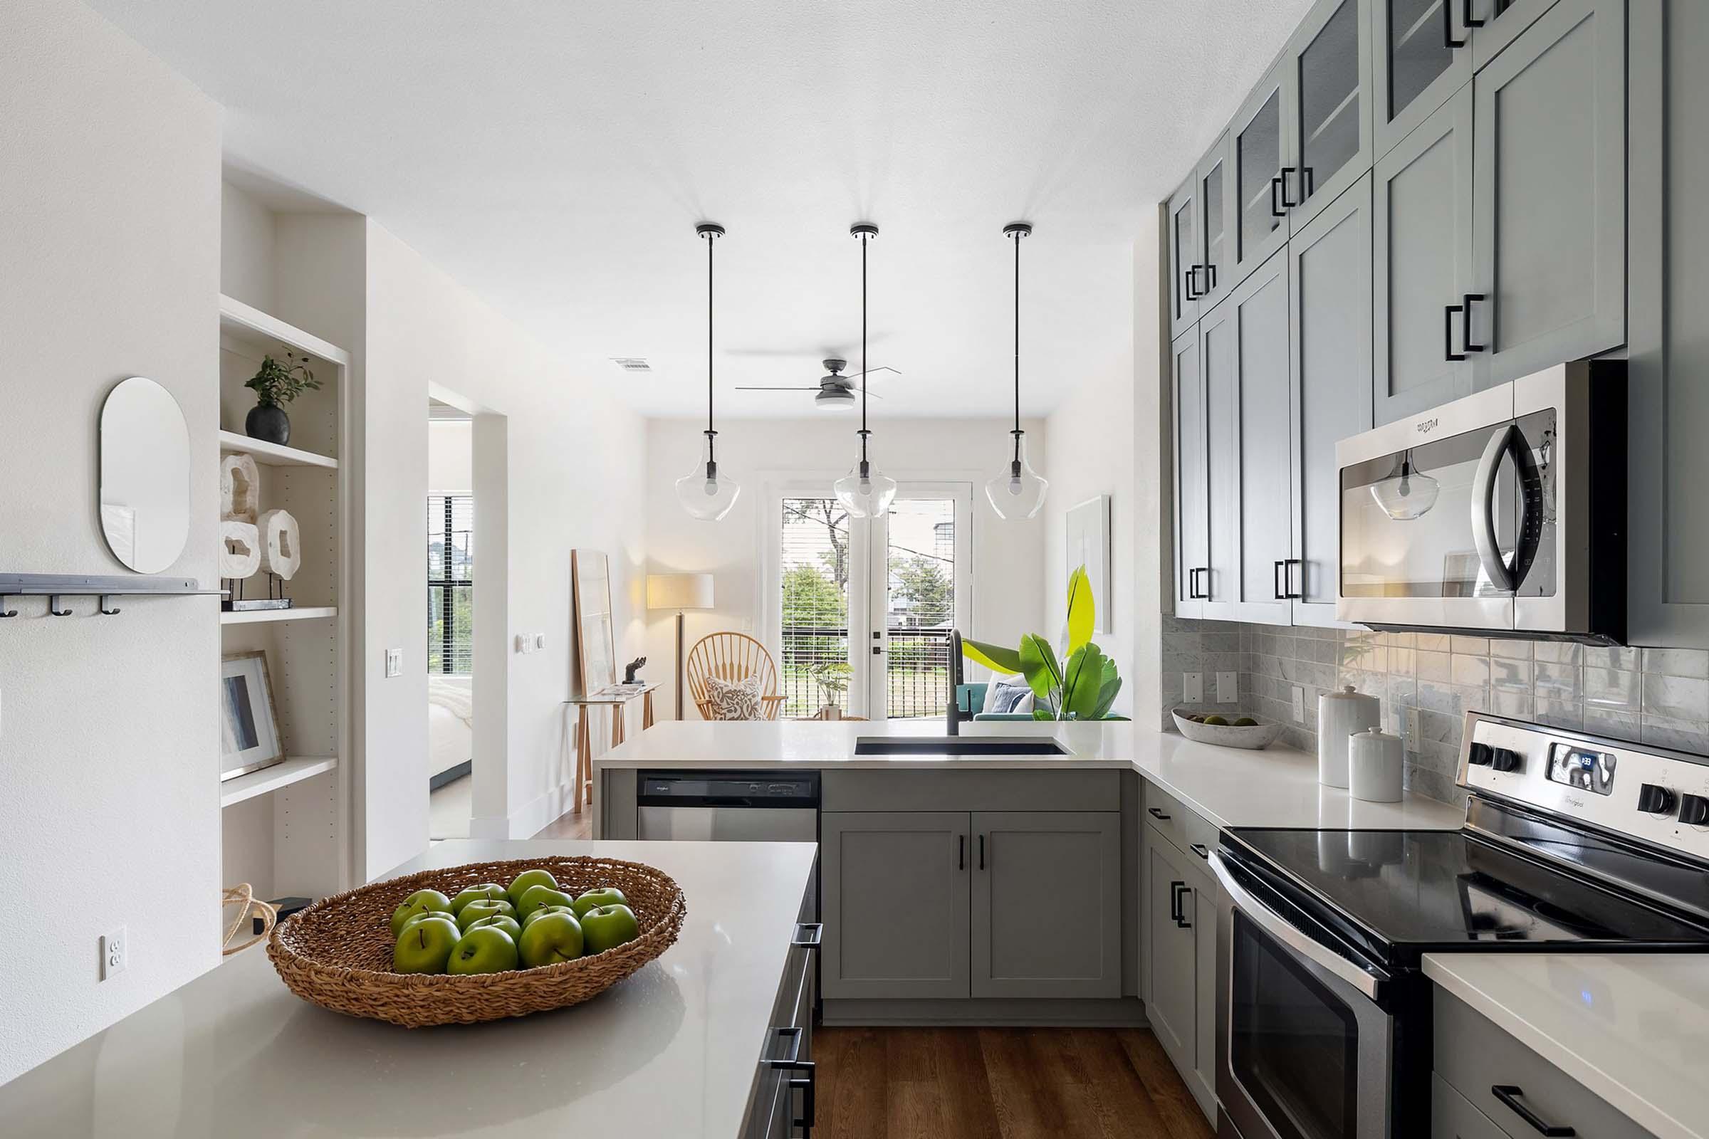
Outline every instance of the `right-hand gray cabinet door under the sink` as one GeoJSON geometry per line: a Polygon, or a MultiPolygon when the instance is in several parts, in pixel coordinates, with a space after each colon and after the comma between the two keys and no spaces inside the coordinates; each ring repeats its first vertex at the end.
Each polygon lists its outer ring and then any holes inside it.
{"type": "Polygon", "coordinates": [[[972,996],[1121,996],[1121,815],[976,811],[972,996]]]}

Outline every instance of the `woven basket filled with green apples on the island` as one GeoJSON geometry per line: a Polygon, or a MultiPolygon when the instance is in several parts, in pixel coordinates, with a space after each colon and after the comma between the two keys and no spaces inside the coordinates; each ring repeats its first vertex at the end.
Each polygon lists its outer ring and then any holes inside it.
{"type": "Polygon", "coordinates": [[[687,908],[643,862],[473,862],[323,898],[273,929],[267,956],[321,1008],[472,1025],[598,996],[670,948],[687,908]]]}

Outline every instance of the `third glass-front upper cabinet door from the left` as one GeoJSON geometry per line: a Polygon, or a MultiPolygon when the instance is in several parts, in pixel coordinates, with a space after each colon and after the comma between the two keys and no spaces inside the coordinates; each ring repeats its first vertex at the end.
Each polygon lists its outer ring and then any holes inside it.
{"type": "MultiPolygon", "coordinates": [[[[1229,126],[1224,169],[1234,183],[1230,219],[1229,287],[1239,285],[1270,254],[1287,242],[1289,222],[1283,202],[1290,184],[1283,184],[1282,167],[1292,154],[1289,120],[1292,111],[1287,63],[1265,77],[1229,126]]],[[[1297,174],[1289,169],[1289,179],[1297,174]]]]}

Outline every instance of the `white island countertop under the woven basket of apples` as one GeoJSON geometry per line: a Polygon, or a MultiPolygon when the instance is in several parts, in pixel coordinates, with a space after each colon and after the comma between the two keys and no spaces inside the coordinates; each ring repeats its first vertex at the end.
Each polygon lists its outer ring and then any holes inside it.
{"type": "Polygon", "coordinates": [[[783,842],[441,842],[385,878],[614,856],[677,879],[689,902],[682,936],[586,1004],[415,1030],[297,999],[258,946],[0,1086],[0,1132],[733,1139],[815,852],[783,842]]]}

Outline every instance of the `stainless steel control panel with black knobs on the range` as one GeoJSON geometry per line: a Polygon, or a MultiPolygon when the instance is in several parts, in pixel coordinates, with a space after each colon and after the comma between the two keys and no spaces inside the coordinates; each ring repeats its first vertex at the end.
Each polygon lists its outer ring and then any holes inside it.
{"type": "Polygon", "coordinates": [[[1468,712],[1459,786],[1709,857],[1709,756],[1468,712]]]}

